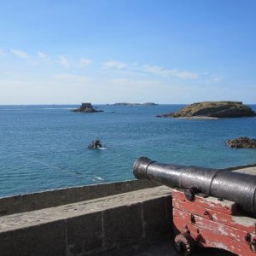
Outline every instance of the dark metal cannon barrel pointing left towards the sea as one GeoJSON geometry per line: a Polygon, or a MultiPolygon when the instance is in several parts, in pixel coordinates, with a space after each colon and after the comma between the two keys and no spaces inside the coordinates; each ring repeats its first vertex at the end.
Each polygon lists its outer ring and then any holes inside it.
{"type": "Polygon", "coordinates": [[[245,212],[256,216],[256,176],[224,169],[161,164],[147,157],[137,159],[133,173],[137,179],[171,188],[195,188],[207,195],[235,201],[245,212]]]}

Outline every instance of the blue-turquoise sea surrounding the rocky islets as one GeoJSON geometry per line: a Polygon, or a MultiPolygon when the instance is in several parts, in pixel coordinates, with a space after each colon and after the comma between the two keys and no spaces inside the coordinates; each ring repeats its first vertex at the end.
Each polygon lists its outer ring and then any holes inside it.
{"type": "Polygon", "coordinates": [[[256,118],[154,117],[183,105],[70,111],[76,107],[0,107],[0,196],[131,179],[133,162],[140,156],[208,167],[256,163],[256,150],[225,144],[234,137],[256,137],[256,118]],[[87,149],[96,137],[106,149],[87,149]]]}

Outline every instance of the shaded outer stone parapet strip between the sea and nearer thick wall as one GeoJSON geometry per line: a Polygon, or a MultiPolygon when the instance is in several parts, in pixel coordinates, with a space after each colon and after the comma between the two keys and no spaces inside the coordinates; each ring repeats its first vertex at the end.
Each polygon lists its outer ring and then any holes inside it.
{"type": "Polygon", "coordinates": [[[0,216],[17,212],[30,212],[47,207],[57,207],[78,201],[85,201],[130,192],[137,189],[154,188],[158,185],[144,180],[117,183],[101,183],[66,189],[15,195],[0,198],[0,216]]]}

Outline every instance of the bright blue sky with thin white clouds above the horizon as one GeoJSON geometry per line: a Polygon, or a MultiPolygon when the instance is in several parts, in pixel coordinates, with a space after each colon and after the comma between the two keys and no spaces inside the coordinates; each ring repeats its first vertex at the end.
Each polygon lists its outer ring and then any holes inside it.
{"type": "Polygon", "coordinates": [[[0,105],[256,103],[254,0],[0,0],[0,105]]]}

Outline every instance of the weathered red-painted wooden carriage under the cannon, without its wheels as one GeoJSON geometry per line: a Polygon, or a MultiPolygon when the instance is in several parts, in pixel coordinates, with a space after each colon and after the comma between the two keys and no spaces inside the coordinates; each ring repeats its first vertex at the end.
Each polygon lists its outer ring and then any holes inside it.
{"type": "Polygon", "coordinates": [[[201,247],[218,247],[241,256],[256,256],[245,240],[256,241],[256,219],[237,214],[236,203],[195,196],[188,201],[183,191],[173,189],[173,224],[177,232],[189,232],[201,247]],[[192,215],[192,218],[191,218],[192,215]]]}

